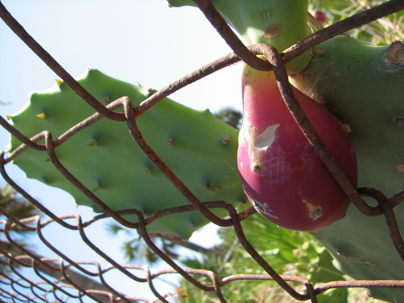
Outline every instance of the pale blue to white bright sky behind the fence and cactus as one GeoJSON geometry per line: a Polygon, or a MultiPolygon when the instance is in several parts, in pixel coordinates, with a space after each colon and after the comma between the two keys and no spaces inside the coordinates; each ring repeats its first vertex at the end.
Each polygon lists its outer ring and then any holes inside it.
{"type": "MultiPolygon", "coordinates": [[[[93,67],[114,78],[159,89],[231,52],[197,8],[168,8],[165,0],[3,0],[2,3],[74,77],[84,74],[86,67],[93,67]]],[[[7,103],[0,105],[0,114],[5,117],[27,103],[29,92],[50,88],[58,77],[2,22],[0,39],[0,100],[7,103]]],[[[170,98],[213,112],[229,105],[241,110],[240,76],[240,65],[227,67],[170,98]]],[[[6,148],[8,139],[8,133],[1,128],[0,149],[6,148]]],[[[79,213],[84,220],[93,215],[85,206],[76,207],[63,191],[25,179],[24,173],[13,164],[8,164],[6,170],[55,214],[79,213]]],[[[69,257],[77,261],[98,258],[86,249],[77,233],[53,225],[44,230],[46,238],[69,257]]],[[[122,237],[111,239],[101,223],[88,233],[97,245],[124,262],[119,249],[122,237]]],[[[210,246],[211,236],[206,234],[209,232],[194,241],[210,246]]],[[[42,255],[54,256],[48,248],[40,244],[37,247],[42,255]]],[[[134,289],[131,281],[116,276],[112,280],[122,292],[135,295],[130,293],[134,289]]],[[[168,290],[160,287],[163,293],[168,290]]],[[[147,286],[135,288],[136,296],[150,296],[147,286]]]]}

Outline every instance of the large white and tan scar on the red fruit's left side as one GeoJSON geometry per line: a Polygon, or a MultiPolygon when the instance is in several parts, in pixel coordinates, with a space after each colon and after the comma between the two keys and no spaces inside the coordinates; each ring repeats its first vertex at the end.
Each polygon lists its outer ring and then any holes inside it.
{"type": "Polygon", "coordinates": [[[265,151],[271,147],[276,138],[275,132],[280,124],[270,125],[261,133],[257,127],[252,127],[251,124],[247,126],[247,140],[248,140],[248,156],[250,157],[250,169],[255,173],[260,173],[264,170],[263,156],[265,151]]]}

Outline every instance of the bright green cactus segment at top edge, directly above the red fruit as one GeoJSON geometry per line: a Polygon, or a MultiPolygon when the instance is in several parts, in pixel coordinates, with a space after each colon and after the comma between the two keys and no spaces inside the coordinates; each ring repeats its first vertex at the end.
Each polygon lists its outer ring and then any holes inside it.
{"type": "MultiPolygon", "coordinates": [[[[196,6],[190,0],[167,3],[172,7],[196,6]]],[[[248,45],[266,43],[280,53],[309,35],[306,0],[214,0],[212,4],[248,45]]],[[[288,62],[288,74],[304,69],[310,57],[308,50],[288,62]]]]}

